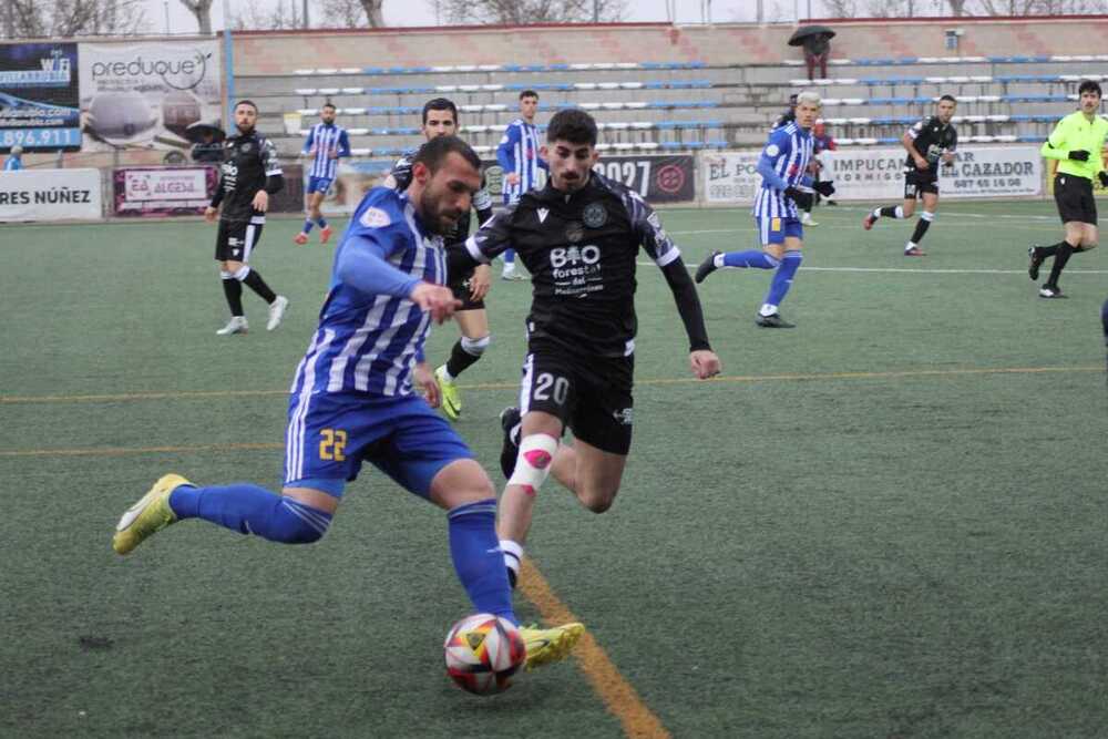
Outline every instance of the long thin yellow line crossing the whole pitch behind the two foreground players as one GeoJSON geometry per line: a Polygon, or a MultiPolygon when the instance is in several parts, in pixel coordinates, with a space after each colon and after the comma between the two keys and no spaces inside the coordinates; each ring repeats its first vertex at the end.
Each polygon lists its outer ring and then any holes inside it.
{"type": "MultiPolygon", "coordinates": [[[[710,382],[780,382],[797,380],[885,380],[911,377],[960,377],[968,374],[1043,374],[1048,372],[1102,372],[1104,367],[977,367],[941,370],[891,370],[884,372],[802,372],[786,374],[727,374],[710,382]]],[[[665,384],[694,384],[696,378],[654,378],[635,380],[636,387],[665,384]]],[[[459,384],[461,390],[515,390],[519,382],[474,382],[459,384]]],[[[130,392],[98,396],[0,396],[0,406],[29,403],[116,403],[140,400],[194,400],[208,398],[264,398],[285,397],[287,390],[183,390],[177,392],[130,392]]]]}

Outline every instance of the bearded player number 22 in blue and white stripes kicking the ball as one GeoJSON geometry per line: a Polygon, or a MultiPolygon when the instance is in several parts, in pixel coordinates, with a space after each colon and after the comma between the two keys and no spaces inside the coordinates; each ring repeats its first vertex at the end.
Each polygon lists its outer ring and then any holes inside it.
{"type": "MultiPolygon", "coordinates": [[[[429,142],[403,193],[367,193],[335,255],[331,286],[289,399],[285,482],[279,495],[247,483],[195,485],[160,479],[129,510],[112,541],[127,554],[184,519],[243,534],[308,544],[327,532],[348,481],[371,462],[402,487],[448,512],[450,552],[478,612],[517,623],[495,531],[496,494],[484,469],[437,402],[423,359],[432,320],[458,305],[441,234],[470,207],[481,160],[460,138],[429,142]]],[[[527,666],[560,659],[584,627],[522,629],[527,666]]]]}

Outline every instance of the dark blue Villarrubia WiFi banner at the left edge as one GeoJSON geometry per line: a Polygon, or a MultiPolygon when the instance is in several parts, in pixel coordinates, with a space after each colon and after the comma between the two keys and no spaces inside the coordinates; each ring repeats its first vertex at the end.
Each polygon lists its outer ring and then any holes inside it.
{"type": "Polygon", "coordinates": [[[81,147],[75,43],[0,45],[0,152],[81,147]]]}

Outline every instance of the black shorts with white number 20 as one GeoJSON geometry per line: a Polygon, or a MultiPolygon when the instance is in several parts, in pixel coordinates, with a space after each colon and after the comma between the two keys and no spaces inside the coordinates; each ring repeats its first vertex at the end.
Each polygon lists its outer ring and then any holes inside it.
{"type": "Polygon", "coordinates": [[[630,451],[634,357],[576,357],[548,343],[532,343],[523,362],[520,411],[562,419],[573,435],[597,449],[630,451]]]}

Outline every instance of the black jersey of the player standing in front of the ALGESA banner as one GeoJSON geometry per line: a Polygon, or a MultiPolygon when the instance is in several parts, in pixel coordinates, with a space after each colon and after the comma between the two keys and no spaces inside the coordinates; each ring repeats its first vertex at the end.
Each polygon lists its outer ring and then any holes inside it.
{"type": "Polygon", "coordinates": [[[224,142],[219,174],[219,191],[212,204],[223,203],[219,219],[229,223],[265,217],[264,213],[254,209],[254,196],[259,189],[273,194],[280,189],[284,182],[277,150],[271,141],[259,136],[255,131],[232,136],[224,142]],[[269,177],[275,181],[269,182],[267,189],[266,181],[269,177]]]}

